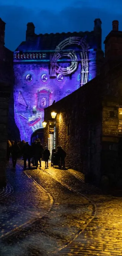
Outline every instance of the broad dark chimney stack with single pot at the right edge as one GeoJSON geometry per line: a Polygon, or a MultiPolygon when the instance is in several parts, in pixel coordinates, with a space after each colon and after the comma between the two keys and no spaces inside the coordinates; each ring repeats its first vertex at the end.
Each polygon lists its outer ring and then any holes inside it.
{"type": "Polygon", "coordinates": [[[122,31],[119,31],[118,27],[118,20],[113,20],[112,30],[104,41],[107,71],[122,62],[122,31]]]}

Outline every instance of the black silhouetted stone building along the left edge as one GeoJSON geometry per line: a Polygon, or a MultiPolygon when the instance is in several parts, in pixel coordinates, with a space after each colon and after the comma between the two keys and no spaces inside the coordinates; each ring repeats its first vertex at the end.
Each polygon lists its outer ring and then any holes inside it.
{"type": "Polygon", "coordinates": [[[13,101],[13,52],[5,46],[5,22],[0,18],[0,186],[5,184],[7,138],[17,127],[14,121],[13,101]],[[9,107],[9,99],[11,104],[9,107]],[[9,119],[8,119],[9,111],[9,119]],[[9,124],[9,126],[8,126],[9,124]],[[15,126],[14,126],[15,125],[15,126]]]}

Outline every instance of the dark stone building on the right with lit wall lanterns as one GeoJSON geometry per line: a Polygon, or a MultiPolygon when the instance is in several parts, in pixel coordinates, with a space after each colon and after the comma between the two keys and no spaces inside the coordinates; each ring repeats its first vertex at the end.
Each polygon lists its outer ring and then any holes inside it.
{"type": "Polygon", "coordinates": [[[121,42],[122,31],[118,31],[118,21],[113,21],[113,29],[104,41],[101,73],[45,108],[45,145],[52,121],[54,147],[61,145],[66,150],[66,165],[83,172],[86,181],[97,186],[104,182],[115,187],[122,184],[121,42]],[[57,113],[55,119],[51,118],[52,111],[57,113]]]}

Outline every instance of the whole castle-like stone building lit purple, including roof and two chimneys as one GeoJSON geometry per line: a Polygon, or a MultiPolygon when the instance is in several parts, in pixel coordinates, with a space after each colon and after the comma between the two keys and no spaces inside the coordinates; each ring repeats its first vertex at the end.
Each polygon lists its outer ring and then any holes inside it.
{"type": "Polygon", "coordinates": [[[96,77],[103,64],[101,20],[91,32],[35,34],[27,24],[26,41],[14,52],[15,122],[21,140],[42,127],[44,108],[96,77]]]}

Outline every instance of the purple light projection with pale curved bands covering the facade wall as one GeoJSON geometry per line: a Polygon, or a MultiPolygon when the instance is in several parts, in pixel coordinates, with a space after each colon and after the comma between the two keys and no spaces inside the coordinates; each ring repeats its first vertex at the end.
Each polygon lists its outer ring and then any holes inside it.
{"type": "Polygon", "coordinates": [[[44,108],[94,78],[95,65],[93,49],[80,37],[66,38],[54,53],[15,52],[14,109],[21,140],[30,143],[33,132],[43,128],[44,108]]]}

